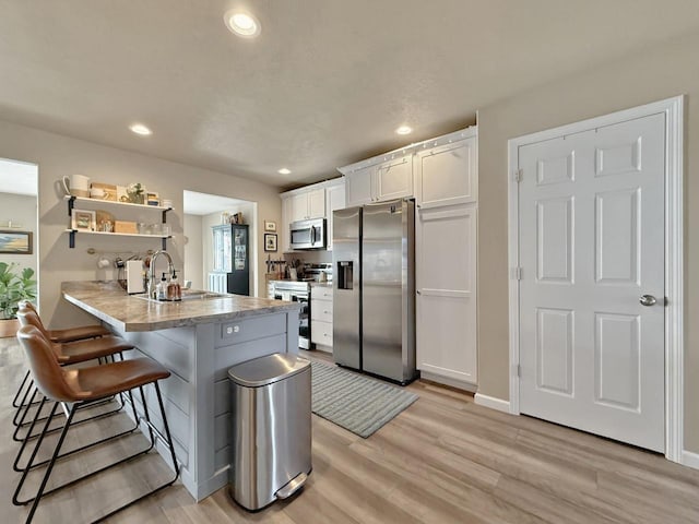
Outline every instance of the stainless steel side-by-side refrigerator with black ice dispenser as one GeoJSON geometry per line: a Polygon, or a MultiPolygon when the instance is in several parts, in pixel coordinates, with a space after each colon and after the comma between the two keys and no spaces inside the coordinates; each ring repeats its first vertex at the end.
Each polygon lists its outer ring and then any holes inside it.
{"type": "Polygon", "coordinates": [[[415,370],[415,202],[333,212],[333,357],[406,383],[415,370]]]}

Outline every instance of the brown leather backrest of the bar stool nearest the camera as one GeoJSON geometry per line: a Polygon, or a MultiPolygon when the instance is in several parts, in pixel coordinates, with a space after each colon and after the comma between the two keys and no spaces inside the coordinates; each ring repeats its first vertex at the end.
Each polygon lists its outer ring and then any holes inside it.
{"type": "Polygon", "coordinates": [[[51,344],[36,326],[23,325],[20,327],[17,341],[26,353],[34,383],[45,396],[59,402],[79,400],[66,380],[66,373],[56,360],[51,344]]]}

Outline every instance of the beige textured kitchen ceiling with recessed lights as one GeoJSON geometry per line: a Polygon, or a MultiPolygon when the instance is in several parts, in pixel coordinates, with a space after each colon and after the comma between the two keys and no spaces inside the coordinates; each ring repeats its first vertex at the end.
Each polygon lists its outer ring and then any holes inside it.
{"type": "Polygon", "coordinates": [[[699,28],[696,0],[0,0],[0,119],[285,189],[699,28]],[[227,31],[234,7],[260,20],[258,38],[227,31]],[[137,121],[154,134],[132,134],[137,121]],[[394,134],[402,123],[414,133],[394,134]]]}

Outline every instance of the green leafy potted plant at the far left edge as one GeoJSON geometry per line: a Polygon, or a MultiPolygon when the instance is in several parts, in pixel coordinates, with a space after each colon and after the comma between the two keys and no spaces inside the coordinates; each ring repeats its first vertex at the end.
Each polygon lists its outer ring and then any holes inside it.
{"type": "Polygon", "coordinates": [[[14,336],[20,329],[16,320],[21,300],[36,299],[34,270],[19,270],[14,262],[0,262],[0,337],[14,336]]]}

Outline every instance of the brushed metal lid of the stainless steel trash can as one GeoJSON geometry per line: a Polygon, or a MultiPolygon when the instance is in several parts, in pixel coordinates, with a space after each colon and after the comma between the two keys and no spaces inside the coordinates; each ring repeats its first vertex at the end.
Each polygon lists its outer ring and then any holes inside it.
{"type": "Polygon", "coordinates": [[[228,370],[228,378],[236,384],[260,388],[300,373],[310,368],[310,361],[297,355],[280,354],[253,358],[228,370]]]}

